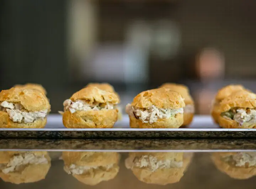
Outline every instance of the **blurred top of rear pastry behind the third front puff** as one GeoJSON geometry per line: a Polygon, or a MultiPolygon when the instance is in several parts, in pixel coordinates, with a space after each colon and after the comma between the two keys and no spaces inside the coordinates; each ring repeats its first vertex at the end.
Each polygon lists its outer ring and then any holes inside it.
{"type": "Polygon", "coordinates": [[[176,83],[165,83],[161,85],[160,88],[167,88],[180,93],[181,96],[184,98],[184,102],[186,105],[194,104],[194,101],[190,95],[190,91],[185,85],[176,83]]]}

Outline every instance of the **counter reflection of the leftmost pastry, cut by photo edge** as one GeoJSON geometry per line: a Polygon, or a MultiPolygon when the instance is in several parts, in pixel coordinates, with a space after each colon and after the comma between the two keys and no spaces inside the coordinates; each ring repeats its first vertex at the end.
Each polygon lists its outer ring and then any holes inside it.
{"type": "Polygon", "coordinates": [[[46,177],[50,161],[46,151],[0,152],[0,178],[14,184],[37,182],[46,177]]]}

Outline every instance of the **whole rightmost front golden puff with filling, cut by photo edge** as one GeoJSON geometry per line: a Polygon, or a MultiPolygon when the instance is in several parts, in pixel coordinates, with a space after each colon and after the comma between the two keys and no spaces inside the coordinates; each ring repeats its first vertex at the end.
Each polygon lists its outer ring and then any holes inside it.
{"type": "Polygon", "coordinates": [[[256,128],[256,94],[242,90],[220,102],[219,125],[223,128],[256,128]]]}

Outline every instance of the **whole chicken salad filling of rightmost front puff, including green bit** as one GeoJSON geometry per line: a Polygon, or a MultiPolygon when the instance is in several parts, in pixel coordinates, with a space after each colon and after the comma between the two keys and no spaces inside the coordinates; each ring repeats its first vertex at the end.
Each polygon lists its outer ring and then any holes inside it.
{"type": "Polygon", "coordinates": [[[229,111],[223,112],[221,115],[224,118],[232,119],[238,122],[240,126],[242,126],[244,123],[256,123],[256,110],[254,109],[233,108],[229,111]]]}

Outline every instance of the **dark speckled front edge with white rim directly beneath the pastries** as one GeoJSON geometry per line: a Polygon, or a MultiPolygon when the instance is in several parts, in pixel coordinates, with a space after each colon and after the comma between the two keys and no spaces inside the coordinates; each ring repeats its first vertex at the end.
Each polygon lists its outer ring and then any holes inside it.
{"type": "Polygon", "coordinates": [[[0,138],[255,138],[256,129],[0,129],[0,138]]]}

